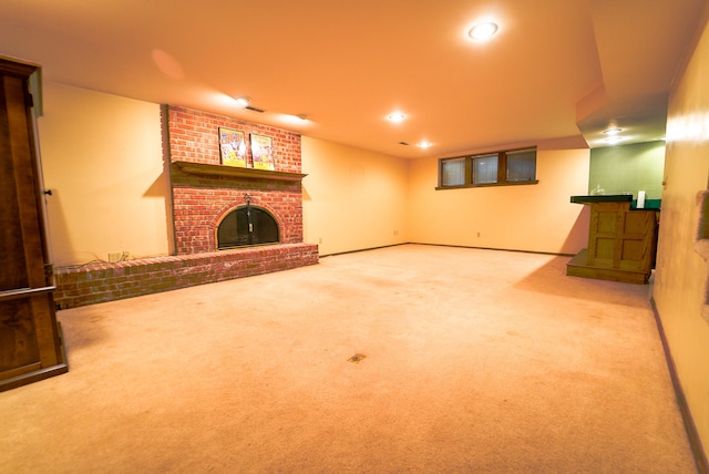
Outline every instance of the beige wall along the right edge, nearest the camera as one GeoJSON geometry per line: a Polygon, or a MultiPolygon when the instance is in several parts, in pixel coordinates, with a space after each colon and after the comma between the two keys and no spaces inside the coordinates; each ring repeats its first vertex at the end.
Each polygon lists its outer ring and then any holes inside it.
{"type": "Polygon", "coordinates": [[[693,249],[697,194],[709,177],[709,28],[674,85],[654,298],[705,451],[709,449],[709,321],[702,318],[708,262],[693,249]]]}

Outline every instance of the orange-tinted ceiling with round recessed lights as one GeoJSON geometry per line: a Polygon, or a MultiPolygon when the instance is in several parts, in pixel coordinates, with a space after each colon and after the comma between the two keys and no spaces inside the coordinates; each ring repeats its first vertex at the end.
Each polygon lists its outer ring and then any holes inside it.
{"type": "Polygon", "coordinates": [[[0,0],[0,54],[40,63],[44,81],[393,156],[579,135],[595,147],[613,121],[627,143],[664,136],[707,1],[0,0]],[[473,43],[483,18],[500,31],[473,43]],[[387,122],[394,110],[408,118],[387,122]]]}

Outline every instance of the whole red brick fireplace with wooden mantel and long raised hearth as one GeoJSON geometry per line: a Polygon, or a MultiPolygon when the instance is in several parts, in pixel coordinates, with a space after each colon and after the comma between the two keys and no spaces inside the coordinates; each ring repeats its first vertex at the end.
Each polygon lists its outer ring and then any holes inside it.
{"type": "MultiPolygon", "coordinates": [[[[236,118],[163,107],[172,184],[173,256],[55,271],[60,308],[111,301],[318,262],[318,246],[302,241],[300,135],[236,118]],[[273,140],[275,171],[222,166],[218,127],[273,140]],[[244,206],[267,213],[278,241],[218,250],[217,228],[244,206]]],[[[250,161],[250,155],[247,154],[250,161]]]]}

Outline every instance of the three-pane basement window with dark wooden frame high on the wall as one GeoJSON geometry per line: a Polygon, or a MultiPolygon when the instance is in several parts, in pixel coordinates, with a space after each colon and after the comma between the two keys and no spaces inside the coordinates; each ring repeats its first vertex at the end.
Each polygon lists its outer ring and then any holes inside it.
{"type": "Polygon", "coordinates": [[[505,150],[439,161],[436,189],[537,183],[536,148],[505,150]]]}

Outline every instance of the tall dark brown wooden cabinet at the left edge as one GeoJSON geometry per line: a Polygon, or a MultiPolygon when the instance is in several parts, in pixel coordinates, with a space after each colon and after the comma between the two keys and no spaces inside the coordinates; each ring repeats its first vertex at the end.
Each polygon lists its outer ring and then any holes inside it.
{"type": "Polygon", "coordinates": [[[23,69],[0,61],[0,390],[66,371],[23,69]],[[4,70],[7,68],[7,70],[4,70]]]}

